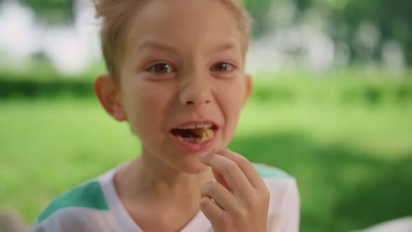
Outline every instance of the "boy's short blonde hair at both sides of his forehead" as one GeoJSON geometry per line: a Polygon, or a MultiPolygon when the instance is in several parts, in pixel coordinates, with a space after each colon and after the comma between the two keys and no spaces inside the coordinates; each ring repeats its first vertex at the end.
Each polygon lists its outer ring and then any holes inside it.
{"type": "MultiPolygon", "coordinates": [[[[101,49],[106,67],[112,77],[119,79],[119,64],[124,53],[124,40],[131,17],[145,3],[154,0],[92,0],[96,8],[96,18],[101,19],[101,49]]],[[[249,45],[250,16],[239,0],[219,0],[227,6],[237,19],[238,27],[244,36],[244,53],[249,45]]]]}

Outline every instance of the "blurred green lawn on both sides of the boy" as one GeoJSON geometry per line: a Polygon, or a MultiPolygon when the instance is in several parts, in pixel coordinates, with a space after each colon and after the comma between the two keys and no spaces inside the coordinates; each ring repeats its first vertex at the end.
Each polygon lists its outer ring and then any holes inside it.
{"type": "MultiPolygon", "coordinates": [[[[404,87],[410,82],[256,80],[230,149],[297,178],[301,231],[412,215],[412,101],[397,94],[404,87]]],[[[0,147],[0,206],[27,222],[140,149],[96,100],[70,98],[0,101],[0,147]]]]}

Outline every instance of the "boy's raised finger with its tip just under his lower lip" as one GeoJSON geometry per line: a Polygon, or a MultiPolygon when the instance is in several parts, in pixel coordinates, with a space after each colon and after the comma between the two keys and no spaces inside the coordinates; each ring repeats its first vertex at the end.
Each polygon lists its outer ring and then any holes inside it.
{"type": "Polygon", "coordinates": [[[207,154],[200,159],[203,164],[212,167],[212,170],[226,180],[226,183],[235,195],[249,195],[253,189],[249,180],[244,175],[240,167],[230,159],[218,154],[207,154]]]}

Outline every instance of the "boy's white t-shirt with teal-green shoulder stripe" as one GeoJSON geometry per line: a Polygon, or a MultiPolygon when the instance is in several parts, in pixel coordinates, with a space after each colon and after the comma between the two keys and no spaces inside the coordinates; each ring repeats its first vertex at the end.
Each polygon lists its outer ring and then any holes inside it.
{"type": "MultiPolygon", "coordinates": [[[[278,168],[253,164],[270,191],[267,231],[299,231],[300,201],[295,178],[278,168]]],[[[41,212],[34,232],[142,232],[119,200],[113,184],[117,168],[58,196],[41,212]]],[[[199,211],[181,232],[212,232],[199,211]]]]}

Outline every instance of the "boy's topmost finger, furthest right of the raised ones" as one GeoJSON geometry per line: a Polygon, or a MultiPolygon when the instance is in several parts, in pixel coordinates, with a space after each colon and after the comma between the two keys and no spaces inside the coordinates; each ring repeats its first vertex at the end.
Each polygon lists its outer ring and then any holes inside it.
{"type": "Polygon", "coordinates": [[[230,150],[219,150],[219,152],[216,152],[216,153],[235,162],[235,164],[239,166],[240,170],[242,170],[244,175],[247,177],[247,179],[249,180],[253,188],[255,189],[265,189],[266,188],[266,184],[263,181],[262,177],[260,177],[256,168],[245,157],[243,157],[240,154],[237,154],[236,152],[232,152],[230,150]]]}

